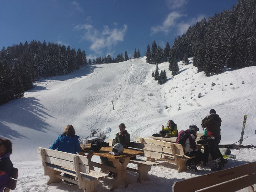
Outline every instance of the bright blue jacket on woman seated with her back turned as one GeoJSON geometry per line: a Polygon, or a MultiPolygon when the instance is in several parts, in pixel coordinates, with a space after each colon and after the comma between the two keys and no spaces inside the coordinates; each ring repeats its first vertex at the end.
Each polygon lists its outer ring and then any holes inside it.
{"type": "Polygon", "coordinates": [[[49,149],[57,149],[58,151],[76,154],[81,150],[78,138],[80,137],[77,135],[69,137],[65,133],[62,133],[49,147],[49,149]]]}

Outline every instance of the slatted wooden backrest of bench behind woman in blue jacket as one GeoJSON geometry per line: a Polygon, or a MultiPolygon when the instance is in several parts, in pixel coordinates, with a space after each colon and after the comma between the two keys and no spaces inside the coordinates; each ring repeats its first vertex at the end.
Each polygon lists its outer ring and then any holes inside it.
{"type": "Polygon", "coordinates": [[[89,160],[86,156],[65,153],[62,151],[37,147],[38,157],[45,163],[68,168],[72,171],[80,170],[89,173],[89,160]]]}

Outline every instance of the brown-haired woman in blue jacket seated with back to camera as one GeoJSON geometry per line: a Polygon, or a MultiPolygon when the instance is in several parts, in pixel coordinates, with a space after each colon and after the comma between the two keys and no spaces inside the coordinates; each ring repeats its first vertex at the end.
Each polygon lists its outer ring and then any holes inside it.
{"type": "MultiPolygon", "coordinates": [[[[49,149],[56,149],[58,151],[63,151],[66,153],[79,153],[81,150],[79,139],[80,137],[75,135],[75,129],[72,125],[67,125],[64,129],[64,132],[59,135],[59,137],[54,141],[54,143],[49,147],[49,149]]],[[[74,179],[74,176],[68,175],[64,173],[64,176],[74,179]]],[[[69,185],[74,185],[69,181],[65,181],[64,183],[69,185]]]]}

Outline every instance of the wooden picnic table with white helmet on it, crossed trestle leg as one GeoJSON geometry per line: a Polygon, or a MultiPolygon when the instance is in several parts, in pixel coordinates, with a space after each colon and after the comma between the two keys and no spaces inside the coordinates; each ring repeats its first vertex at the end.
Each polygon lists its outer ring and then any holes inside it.
{"type": "MultiPolygon", "coordinates": [[[[119,156],[115,156],[115,155],[111,155],[109,154],[110,151],[112,151],[112,146],[109,147],[101,147],[101,150],[99,150],[98,152],[94,152],[91,149],[88,149],[90,146],[88,145],[81,145],[81,151],[80,151],[80,155],[85,155],[85,153],[87,153],[88,159],[91,161],[91,157],[92,155],[98,155],[101,157],[107,157],[109,161],[113,162],[114,167],[117,169],[117,178],[113,184],[113,187],[111,189],[111,191],[113,191],[114,189],[116,189],[121,183],[122,181],[125,184],[125,187],[128,186],[129,179],[127,176],[127,165],[130,161],[131,157],[134,157],[136,155],[144,155],[143,151],[139,151],[139,150],[134,150],[134,149],[124,149],[123,151],[123,155],[119,155],[119,156]]],[[[90,167],[90,169],[93,170],[93,167],[90,167]]]]}

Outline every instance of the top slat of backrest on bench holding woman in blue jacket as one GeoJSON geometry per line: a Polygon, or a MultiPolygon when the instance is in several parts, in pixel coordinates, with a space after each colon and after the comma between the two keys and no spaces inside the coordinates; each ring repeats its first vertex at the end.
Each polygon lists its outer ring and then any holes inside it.
{"type": "MultiPolygon", "coordinates": [[[[62,151],[46,149],[46,148],[42,148],[42,147],[37,147],[37,154],[41,154],[41,151],[40,151],[41,149],[45,150],[45,155],[59,158],[62,160],[74,161],[74,156],[76,155],[76,154],[72,154],[72,153],[66,153],[66,152],[62,152],[62,151]]],[[[78,155],[78,157],[79,157],[80,164],[88,165],[88,158],[86,156],[78,155]]]]}

